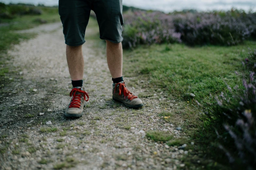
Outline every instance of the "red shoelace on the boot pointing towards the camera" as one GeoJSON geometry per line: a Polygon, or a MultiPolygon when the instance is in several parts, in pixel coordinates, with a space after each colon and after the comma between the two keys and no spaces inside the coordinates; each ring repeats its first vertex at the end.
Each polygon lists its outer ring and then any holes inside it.
{"type": "Polygon", "coordinates": [[[73,94],[73,97],[71,99],[71,103],[69,105],[68,108],[80,108],[81,107],[81,97],[82,97],[82,94],[83,94],[83,97],[84,97],[84,100],[87,102],[89,100],[89,96],[88,96],[88,92],[85,92],[85,91],[82,91],[80,88],[77,89],[77,88],[73,88],[71,90],[71,92],[69,93],[69,96],[72,96],[73,94]],[[79,94],[76,94],[76,92],[80,92],[79,94]],[[87,96],[87,100],[86,100],[86,97],[87,96]]]}

